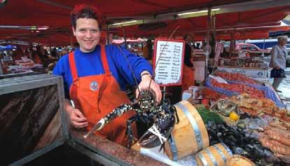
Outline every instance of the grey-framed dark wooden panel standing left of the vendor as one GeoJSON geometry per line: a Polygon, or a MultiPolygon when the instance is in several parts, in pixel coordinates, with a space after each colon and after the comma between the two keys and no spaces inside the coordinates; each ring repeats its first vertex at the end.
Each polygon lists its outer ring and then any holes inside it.
{"type": "MultiPolygon", "coordinates": [[[[68,138],[62,78],[47,74],[0,80],[0,153],[3,165],[68,138]],[[62,124],[63,123],[63,124],[62,124]]],[[[2,165],[2,164],[1,164],[2,165]]]]}

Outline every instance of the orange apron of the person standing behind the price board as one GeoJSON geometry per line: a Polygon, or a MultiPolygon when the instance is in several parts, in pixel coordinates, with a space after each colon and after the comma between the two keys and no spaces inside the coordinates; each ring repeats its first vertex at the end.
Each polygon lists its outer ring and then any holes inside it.
{"type": "Polygon", "coordinates": [[[194,85],[194,70],[192,67],[186,67],[184,65],[184,74],[182,76],[182,92],[188,90],[188,88],[194,85]]]}

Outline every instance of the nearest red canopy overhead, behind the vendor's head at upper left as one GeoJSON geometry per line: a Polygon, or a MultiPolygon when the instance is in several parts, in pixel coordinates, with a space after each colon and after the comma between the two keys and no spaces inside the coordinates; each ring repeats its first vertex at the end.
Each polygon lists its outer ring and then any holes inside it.
{"type": "MultiPolygon", "coordinates": [[[[149,15],[185,11],[193,8],[205,8],[207,6],[220,6],[233,4],[242,0],[15,0],[8,1],[0,10],[0,25],[36,25],[49,27],[70,26],[69,13],[76,4],[89,4],[97,6],[106,17],[113,18],[144,18],[149,15]]],[[[113,19],[115,20],[115,19],[113,19]]]]}

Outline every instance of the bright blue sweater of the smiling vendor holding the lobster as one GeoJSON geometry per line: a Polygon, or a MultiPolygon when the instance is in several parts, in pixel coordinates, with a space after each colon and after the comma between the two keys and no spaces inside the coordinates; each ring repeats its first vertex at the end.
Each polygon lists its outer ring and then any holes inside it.
{"type": "MultiPolygon", "coordinates": [[[[152,74],[152,67],[143,57],[138,57],[124,48],[121,49],[122,51],[116,45],[106,45],[105,47],[109,69],[118,82],[120,89],[125,90],[127,84],[131,86],[136,85],[130,66],[134,71],[138,84],[141,81],[141,72],[146,70],[152,74]],[[127,60],[125,56],[127,57],[127,60]]],[[[101,60],[101,46],[99,45],[90,53],[83,53],[79,49],[75,50],[74,60],[76,62],[78,77],[104,74],[101,60]]],[[[69,55],[64,55],[60,58],[53,69],[53,74],[62,76],[64,79],[64,92],[66,98],[69,99],[69,88],[72,83],[71,68],[69,67],[69,55]]]]}

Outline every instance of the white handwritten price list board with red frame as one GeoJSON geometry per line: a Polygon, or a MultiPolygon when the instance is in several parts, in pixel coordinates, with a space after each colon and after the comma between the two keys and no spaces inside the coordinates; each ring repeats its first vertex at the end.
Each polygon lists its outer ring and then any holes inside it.
{"type": "Polygon", "coordinates": [[[155,81],[162,86],[181,85],[184,62],[184,41],[162,41],[154,43],[155,81]]]}

